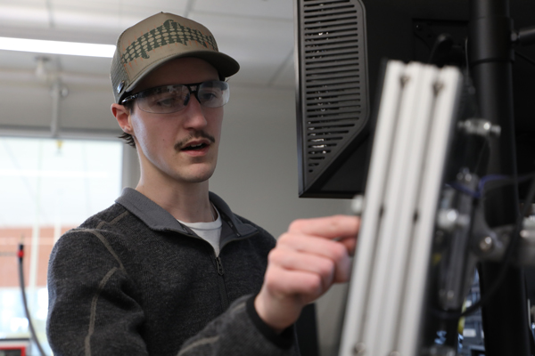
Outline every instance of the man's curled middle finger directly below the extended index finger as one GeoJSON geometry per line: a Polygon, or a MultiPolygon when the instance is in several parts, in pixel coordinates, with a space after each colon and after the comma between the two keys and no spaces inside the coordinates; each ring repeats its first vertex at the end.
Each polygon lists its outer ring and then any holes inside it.
{"type": "Polygon", "coordinates": [[[334,266],[334,281],[336,283],[347,281],[350,277],[350,256],[347,247],[341,242],[313,236],[284,234],[277,241],[277,246],[272,253],[276,254],[279,251],[281,254],[290,254],[292,251],[300,253],[300,255],[288,255],[288,258],[290,258],[289,256],[312,255],[328,259],[334,266]]]}

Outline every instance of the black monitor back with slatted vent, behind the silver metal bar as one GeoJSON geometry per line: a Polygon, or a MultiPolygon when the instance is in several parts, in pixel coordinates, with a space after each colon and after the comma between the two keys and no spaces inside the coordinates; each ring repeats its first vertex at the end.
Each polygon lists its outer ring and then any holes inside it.
{"type": "MultiPolygon", "coordinates": [[[[535,25],[535,2],[512,0],[515,28],[535,25]]],[[[299,194],[352,198],[366,189],[384,59],[465,69],[466,0],[295,0],[299,194]],[[444,51],[434,45],[447,34],[444,51]],[[434,50],[433,50],[434,48],[434,50]]],[[[514,62],[519,174],[535,170],[535,46],[514,62]]],[[[522,196],[522,194],[521,194],[522,196]]]]}

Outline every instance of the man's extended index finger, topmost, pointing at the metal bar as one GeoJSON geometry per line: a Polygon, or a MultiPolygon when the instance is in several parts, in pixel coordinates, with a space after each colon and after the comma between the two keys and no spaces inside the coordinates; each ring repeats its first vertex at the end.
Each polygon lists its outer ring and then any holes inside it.
{"type": "Polygon", "coordinates": [[[357,216],[333,215],[294,221],[288,232],[298,232],[324,239],[342,239],[356,236],[360,219],[357,216]]]}

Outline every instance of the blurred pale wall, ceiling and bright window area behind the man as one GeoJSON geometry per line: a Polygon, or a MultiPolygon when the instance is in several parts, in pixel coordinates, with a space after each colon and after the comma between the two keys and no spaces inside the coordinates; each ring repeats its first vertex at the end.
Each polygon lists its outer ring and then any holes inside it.
{"type": "MultiPolygon", "coordinates": [[[[292,1],[0,0],[0,37],[21,44],[0,50],[0,342],[29,337],[18,245],[26,251],[29,309],[46,344],[53,243],[139,176],[136,151],[117,138],[111,115],[111,56],[37,53],[23,40],[112,46],[125,28],[162,11],[210,28],[219,50],[241,64],[229,80],[210,190],[274,236],[296,218],[349,212],[347,200],[298,198],[292,1]]],[[[337,286],[317,303],[323,356],[333,354],[344,291],[337,286]]]]}

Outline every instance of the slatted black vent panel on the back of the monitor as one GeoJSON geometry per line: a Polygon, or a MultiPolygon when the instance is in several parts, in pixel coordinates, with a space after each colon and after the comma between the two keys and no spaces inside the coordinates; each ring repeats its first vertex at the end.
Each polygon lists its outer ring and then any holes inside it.
{"type": "Polygon", "coordinates": [[[312,182],[367,121],[365,13],[355,0],[297,6],[301,169],[312,182]]]}

